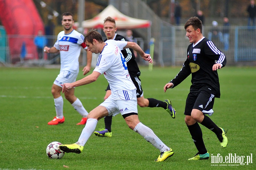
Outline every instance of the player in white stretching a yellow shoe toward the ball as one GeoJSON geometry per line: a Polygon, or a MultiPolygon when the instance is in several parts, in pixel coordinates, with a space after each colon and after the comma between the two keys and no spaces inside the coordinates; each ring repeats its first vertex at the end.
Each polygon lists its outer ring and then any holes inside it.
{"type": "Polygon", "coordinates": [[[102,36],[95,30],[90,30],[84,38],[88,51],[100,53],[97,64],[92,74],[73,83],[64,83],[62,92],[68,92],[77,86],[92,83],[104,74],[111,88],[111,95],[98,107],[90,111],[87,116],[87,123],[77,143],[71,145],[60,145],[59,148],[64,152],[81,153],[85,143],[94,132],[98,120],[108,115],[121,113],[125,122],[133,131],[139,133],[144,139],[150,142],[155,148],[160,150],[160,155],[156,162],[164,161],[174,154],[173,150],[166,146],[154,132],[143,125],[138,118],[136,87],[133,84],[127,69],[125,58],[121,50],[132,48],[141,57],[152,63],[150,54],[144,51],[135,42],[107,40],[103,41],[102,36]]]}

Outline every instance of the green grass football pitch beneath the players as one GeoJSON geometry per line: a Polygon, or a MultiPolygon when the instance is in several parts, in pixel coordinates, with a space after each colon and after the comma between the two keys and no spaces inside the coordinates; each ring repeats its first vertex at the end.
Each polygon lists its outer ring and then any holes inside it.
{"type": "MultiPolygon", "coordinates": [[[[177,112],[176,119],[172,119],[162,108],[138,108],[141,122],[150,127],[175,153],[164,162],[154,162],[159,150],[129,129],[120,114],[113,118],[111,138],[93,134],[81,154],[66,153],[60,160],[49,159],[46,156],[49,143],[75,143],[84,128],[83,125],[76,125],[81,116],[65,99],[65,123],[47,125],[55,116],[51,86],[59,69],[1,67],[0,169],[55,170],[65,169],[63,165],[70,170],[256,169],[256,68],[224,67],[218,71],[221,98],[215,100],[215,113],[211,119],[218,126],[228,129],[229,143],[226,148],[221,148],[216,135],[201,126],[210,159],[200,161],[187,161],[197,152],[183,114],[191,77],[176,88],[166,93],[163,91],[164,85],[179,70],[180,67],[154,67],[150,72],[147,67],[141,67],[144,97],[170,99],[177,112]],[[253,163],[211,163],[211,156],[217,154],[223,157],[223,162],[229,154],[236,154],[239,158],[245,156],[243,162],[246,162],[246,156],[252,154],[253,163]]],[[[80,71],[78,79],[82,77],[80,71]]],[[[77,87],[75,94],[89,112],[103,101],[106,86],[107,81],[101,75],[96,82],[77,87]]],[[[96,130],[103,127],[102,119],[96,130]]]]}

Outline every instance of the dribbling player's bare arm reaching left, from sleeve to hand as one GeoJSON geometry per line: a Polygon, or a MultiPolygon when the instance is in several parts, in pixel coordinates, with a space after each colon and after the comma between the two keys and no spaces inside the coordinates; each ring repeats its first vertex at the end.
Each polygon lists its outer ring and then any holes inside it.
{"type": "Polygon", "coordinates": [[[69,89],[71,89],[71,88],[78,87],[78,86],[83,86],[83,85],[95,82],[100,75],[101,74],[99,72],[93,71],[92,74],[90,74],[90,75],[88,75],[88,76],[86,76],[86,77],[84,77],[84,78],[82,78],[80,80],[77,80],[76,82],[61,84],[61,86],[62,86],[62,93],[68,92],[69,89]]]}

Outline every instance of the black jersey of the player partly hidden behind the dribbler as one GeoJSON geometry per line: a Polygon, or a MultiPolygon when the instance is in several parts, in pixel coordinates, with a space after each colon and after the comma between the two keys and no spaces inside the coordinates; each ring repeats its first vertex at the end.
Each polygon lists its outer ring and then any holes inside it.
{"type": "MultiPolygon", "coordinates": [[[[128,41],[124,36],[115,34],[114,40],[117,41],[128,41]]],[[[104,42],[107,41],[107,39],[104,40],[104,42]]],[[[141,75],[141,71],[139,69],[139,66],[135,60],[135,55],[133,52],[133,49],[126,48],[121,50],[123,57],[125,58],[127,69],[129,71],[129,74],[131,77],[135,77],[137,75],[141,75]]]]}

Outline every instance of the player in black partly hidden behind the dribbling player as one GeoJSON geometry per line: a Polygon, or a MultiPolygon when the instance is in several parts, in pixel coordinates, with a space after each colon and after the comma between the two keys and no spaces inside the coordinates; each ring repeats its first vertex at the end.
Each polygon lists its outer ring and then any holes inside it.
{"type": "MultiPolygon", "coordinates": [[[[107,17],[104,20],[104,27],[103,31],[107,37],[104,41],[107,41],[108,39],[114,39],[119,41],[128,41],[123,37],[122,35],[116,34],[117,28],[115,24],[115,19],[111,17],[107,17]]],[[[166,109],[166,111],[172,116],[172,118],[176,117],[176,111],[172,107],[172,103],[170,100],[160,101],[153,98],[147,98],[145,99],[143,96],[143,90],[141,86],[141,80],[139,76],[141,75],[141,71],[139,70],[138,64],[135,61],[135,55],[133,53],[133,49],[126,48],[124,50],[121,50],[125,61],[127,63],[127,68],[131,77],[131,80],[133,81],[135,87],[137,88],[137,103],[140,107],[162,107],[166,109]]],[[[104,100],[107,99],[111,94],[110,87],[108,85],[106,89],[106,95],[104,97],[104,100]]],[[[94,134],[97,136],[105,136],[105,137],[111,137],[111,124],[112,124],[112,116],[106,116],[104,118],[105,122],[105,128],[100,129],[99,131],[95,131],[94,134]]]]}

